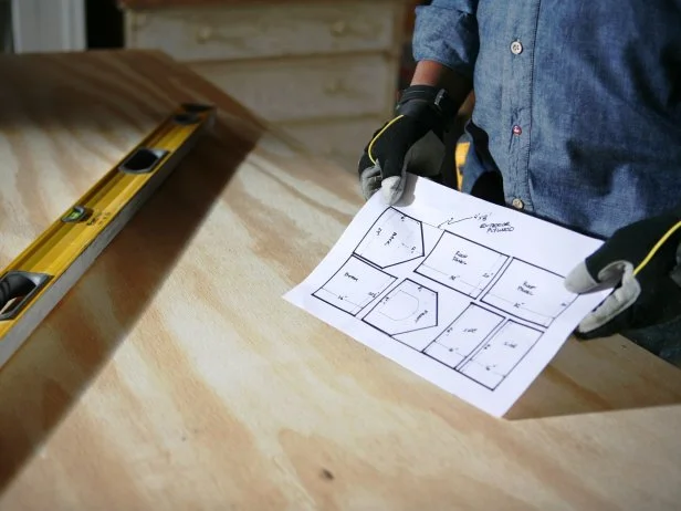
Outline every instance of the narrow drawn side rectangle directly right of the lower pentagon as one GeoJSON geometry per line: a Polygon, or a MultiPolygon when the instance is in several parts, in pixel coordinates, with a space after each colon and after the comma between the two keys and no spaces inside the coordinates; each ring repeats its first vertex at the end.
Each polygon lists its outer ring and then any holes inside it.
{"type": "Polygon", "coordinates": [[[451,368],[467,356],[504,321],[504,316],[471,303],[425,351],[451,368]]]}

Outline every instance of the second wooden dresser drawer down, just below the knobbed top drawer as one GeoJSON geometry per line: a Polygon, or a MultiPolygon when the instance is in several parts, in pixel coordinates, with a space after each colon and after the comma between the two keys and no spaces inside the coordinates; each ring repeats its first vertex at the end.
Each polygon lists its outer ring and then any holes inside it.
{"type": "Polygon", "coordinates": [[[397,62],[380,53],[188,65],[270,122],[387,115],[397,90],[397,62]]]}

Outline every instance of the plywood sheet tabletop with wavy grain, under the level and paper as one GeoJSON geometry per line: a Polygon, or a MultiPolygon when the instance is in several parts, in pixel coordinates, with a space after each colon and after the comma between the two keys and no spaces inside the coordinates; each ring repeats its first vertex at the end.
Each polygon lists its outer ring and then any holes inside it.
{"type": "Polygon", "coordinates": [[[568,342],[497,420],[293,307],[362,205],[156,53],[0,58],[0,265],[182,101],[220,108],[0,372],[0,509],[671,510],[681,372],[568,342]]]}

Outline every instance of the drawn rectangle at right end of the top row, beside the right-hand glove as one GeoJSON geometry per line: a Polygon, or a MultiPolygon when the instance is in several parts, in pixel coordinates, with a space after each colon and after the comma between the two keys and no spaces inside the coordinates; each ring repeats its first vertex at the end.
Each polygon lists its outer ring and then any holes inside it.
{"type": "Polygon", "coordinates": [[[514,259],[482,302],[536,325],[548,327],[577,298],[564,278],[514,259]]]}

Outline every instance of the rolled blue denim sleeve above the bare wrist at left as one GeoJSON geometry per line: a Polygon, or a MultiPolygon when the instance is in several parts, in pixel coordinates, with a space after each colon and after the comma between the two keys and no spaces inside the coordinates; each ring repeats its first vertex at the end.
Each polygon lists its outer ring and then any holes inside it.
{"type": "Polygon", "coordinates": [[[413,59],[439,62],[472,79],[480,42],[478,0],[432,0],[416,8],[413,59]]]}

